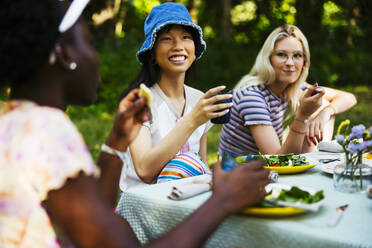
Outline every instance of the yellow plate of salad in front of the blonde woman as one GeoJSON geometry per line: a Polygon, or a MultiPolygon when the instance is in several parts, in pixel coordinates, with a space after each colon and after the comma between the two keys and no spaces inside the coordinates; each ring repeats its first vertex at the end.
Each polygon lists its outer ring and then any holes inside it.
{"type": "Polygon", "coordinates": [[[307,161],[303,155],[276,154],[276,155],[262,155],[260,158],[265,161],[264,167],[268,170],[274,170],[279,174],[294,174],[306,171],[313,168],[315,164],[307,161]]]}

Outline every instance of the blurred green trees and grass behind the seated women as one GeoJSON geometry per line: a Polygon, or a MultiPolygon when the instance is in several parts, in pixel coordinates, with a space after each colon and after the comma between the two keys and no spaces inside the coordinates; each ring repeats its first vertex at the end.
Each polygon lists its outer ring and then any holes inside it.
{"type": "MultiPolygon", "coordinates": [[[[100,55],[101,86],[97,104],[70,107],[68,114],[78,125],[93,155],[98,154],[111,128],[118,100],[137,75],[135,54],[141,47],[143,23],[151,8],[166,1],[92,1],[86,11],[91,19],[102,8],[116,14],[103,24],[90,22],[100,55]],[[119,6],[119,7],[118,7],[119,6]],[[122,23],[122,29],[116,29],[122,23]]],[[[217,85],[232,88],[249,72],[268,34],[285,23],[297,25],[308,38],[311,69],[308,81],[346,89],[358,97],[358,105],[339,115],[336,123],[370,126],[372,79],[372,2],[369,0],[179,0],[204,31],[207,50],[197,61],[189,85],[203,91],[217,85]]],[[[215,156],[219,127],[209,134],[210,156],[215,156]]]]}

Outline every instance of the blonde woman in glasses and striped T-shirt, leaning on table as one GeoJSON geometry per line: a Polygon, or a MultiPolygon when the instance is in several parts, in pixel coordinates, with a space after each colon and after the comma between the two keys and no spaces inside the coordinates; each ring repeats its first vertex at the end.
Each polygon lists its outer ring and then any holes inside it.
{"type": "Polygon", "coordinates": [[[347,92],[307,84],[309,68],[309,46],[301,30],[293,25],[276,28],[250,73],[235,87],[234,106],[221,131],[219,152],[303,153],[316,150],[321,140],[330,140],[334,116],[356,100],[347,92]],[[282,142],[288,105],[294,119],[282,142]]]}

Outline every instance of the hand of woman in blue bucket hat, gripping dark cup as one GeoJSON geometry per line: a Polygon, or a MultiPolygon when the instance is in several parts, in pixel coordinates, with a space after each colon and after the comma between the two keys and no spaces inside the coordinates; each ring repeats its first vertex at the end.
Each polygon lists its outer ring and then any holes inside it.
{"type": "Polygon", "coordinates": [[[202,98],[200,98],[199,102],[195,105],[192,111],[188,114],[196,127],[206,123],[212,118],[223,116],[228,111],[230,111],[232,103],[214,104],[217,101],[226,100],[232,97],[231,94],[217,94],[225,88],[226,86],[218,86],[208,90],[202,96],[202,98]],[[225,110],[215,112],[222,109],[225,110]]]}

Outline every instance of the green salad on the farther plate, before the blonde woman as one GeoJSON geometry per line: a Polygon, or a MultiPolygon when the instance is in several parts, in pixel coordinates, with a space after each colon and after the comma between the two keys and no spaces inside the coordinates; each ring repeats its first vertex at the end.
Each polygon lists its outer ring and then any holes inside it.
{"type": "Polygon", "coordinates": [[[265,166],[279,167],[279,166],[299,166],[309,164],[305,156],[288,153],[284,155],[270,155],[264,156],[260,153],[260,158],[265,161],[265,166]]]}

